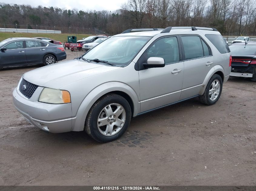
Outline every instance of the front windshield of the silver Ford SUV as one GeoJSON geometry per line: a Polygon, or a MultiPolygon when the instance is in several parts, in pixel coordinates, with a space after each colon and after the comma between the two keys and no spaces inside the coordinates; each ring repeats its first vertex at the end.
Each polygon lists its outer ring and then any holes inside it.
{"type": "Polygon", "coordinates": [[[85,59],[105,60],[115,65],[128,65],[151,37],[111,37],[84,54],[85,59]]]}

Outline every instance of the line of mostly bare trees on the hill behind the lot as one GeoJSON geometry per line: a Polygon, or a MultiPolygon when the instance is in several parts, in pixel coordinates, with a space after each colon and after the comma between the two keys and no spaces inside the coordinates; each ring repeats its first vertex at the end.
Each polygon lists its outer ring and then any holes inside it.
{"type": "Polygon", "coordinates": [[[116,11],[84,9],[0,4],[0,24],[96,28],[109,34],[128,28],[201,26],[217,28],[222,35],[256,36],[256,0],[128,0],[116,11]]]}

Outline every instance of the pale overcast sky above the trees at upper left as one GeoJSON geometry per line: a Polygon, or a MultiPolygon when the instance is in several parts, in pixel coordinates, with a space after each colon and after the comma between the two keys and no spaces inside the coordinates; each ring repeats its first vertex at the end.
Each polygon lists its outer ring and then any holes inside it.
{"type": "Polygon", "coordinates": [[[58,7],[65,9],[77,8],[78,10],[108,10],[115,11],[119,9],[121,5],[127,0],[0,0],[2,3],[9,4],[25,4],[37,7],[42,5],[43,7],[58,7]]]}

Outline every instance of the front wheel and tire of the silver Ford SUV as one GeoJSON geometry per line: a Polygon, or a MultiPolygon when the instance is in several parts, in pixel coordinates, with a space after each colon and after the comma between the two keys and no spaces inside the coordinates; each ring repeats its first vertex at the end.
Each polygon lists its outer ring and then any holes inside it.
{"type": "Polygon", "coordinates": [[[84,130],[98,142],[111,142],[121,137],[131,121],[128,101],[117,94],[99,98],[91,107],[84,130]]]}

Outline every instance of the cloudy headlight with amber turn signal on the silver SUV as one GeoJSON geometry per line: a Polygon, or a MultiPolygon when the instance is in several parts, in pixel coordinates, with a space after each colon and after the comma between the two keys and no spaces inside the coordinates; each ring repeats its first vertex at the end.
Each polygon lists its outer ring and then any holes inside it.
{"type": "Polygon", "coordinates": [[[44,88],[38,101],[44,103],[60,104],[71,103],[71,98],[68,91],[44,88]]]}

